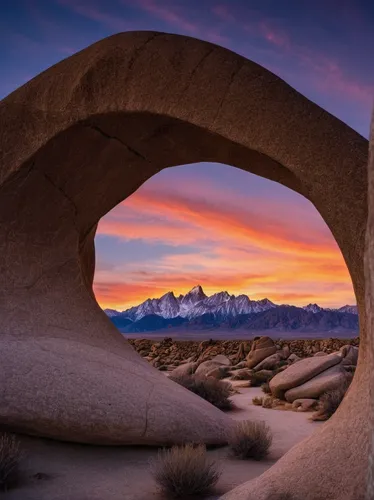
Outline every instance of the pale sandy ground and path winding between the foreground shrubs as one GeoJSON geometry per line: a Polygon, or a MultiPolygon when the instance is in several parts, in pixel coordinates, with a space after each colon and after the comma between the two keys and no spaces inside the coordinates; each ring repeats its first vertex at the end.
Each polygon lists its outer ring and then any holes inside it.
{"type": "MultiPolygon", "coordinates": [[[[323,425],[309,421],[310,413],[254,406],[252,398],[262,395],[259,388],[239,390],[232,398],[237,410],[230,416],[268,422],[274,435],[271,453],[267,460],[256,462],[230,458],[227,448],[208,451],[223,469],[217,493],[209,500],[260,475],[323,425]]],[[[24,479],[17,489],[1,495],[4,500],[164,500],[149,472],[156,449],[87,446],[30,437],[22,441],[26,449],[24,479]]]]}

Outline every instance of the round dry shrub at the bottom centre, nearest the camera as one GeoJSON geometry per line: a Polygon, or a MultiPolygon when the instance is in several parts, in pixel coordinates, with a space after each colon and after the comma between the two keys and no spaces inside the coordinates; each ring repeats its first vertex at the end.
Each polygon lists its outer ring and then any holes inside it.
{"type": "Polygon", "coordinates": [[[209,493],[221,476],[204,445],[186,444],[161,450],[151,472],[164,493],[174,498],[209,493]]]}

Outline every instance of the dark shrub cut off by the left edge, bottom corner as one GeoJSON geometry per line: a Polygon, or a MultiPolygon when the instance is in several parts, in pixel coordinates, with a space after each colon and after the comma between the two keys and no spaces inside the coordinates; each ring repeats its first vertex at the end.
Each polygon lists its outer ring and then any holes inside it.
{"type": "Polygon", "coordinates": [[[20,443],[6,432],[0,434],[0,489],[6,491],[15,486],[19,479],[19,465],[22,459],[20,443]]]}

